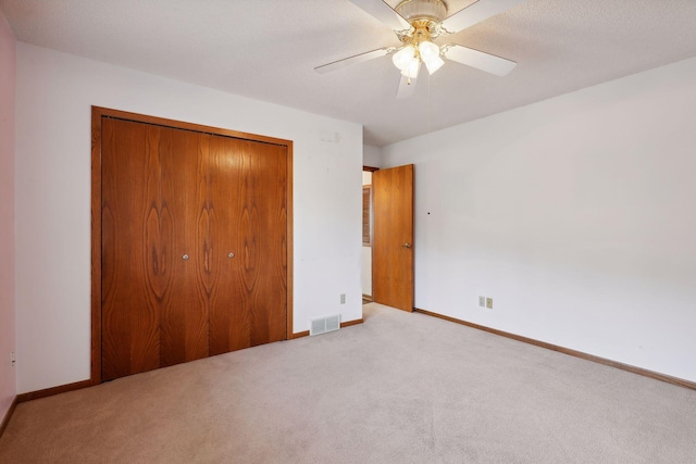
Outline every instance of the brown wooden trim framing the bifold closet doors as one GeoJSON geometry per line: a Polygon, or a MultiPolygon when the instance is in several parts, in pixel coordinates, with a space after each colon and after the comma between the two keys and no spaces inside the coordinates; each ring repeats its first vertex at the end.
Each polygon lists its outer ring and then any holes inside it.
{"type": "Polygon", "coordinates": [[[286,331],[293,338],[293,141],[144,114],[91,106],[91,385],[101,384],[101,120],[103,116],[176,129],[213,134],[285,147],[286,176],[286,331]]]}

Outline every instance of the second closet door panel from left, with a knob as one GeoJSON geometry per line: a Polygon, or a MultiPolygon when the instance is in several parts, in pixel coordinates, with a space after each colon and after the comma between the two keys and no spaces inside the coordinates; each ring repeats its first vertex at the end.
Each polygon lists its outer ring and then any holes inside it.
{"type": "Polygon", "coordinates": [[[164,130],[171,143],[161,159],[161,365],[170,366],[208,356],[207,170],[199,133],[164,130]]]}

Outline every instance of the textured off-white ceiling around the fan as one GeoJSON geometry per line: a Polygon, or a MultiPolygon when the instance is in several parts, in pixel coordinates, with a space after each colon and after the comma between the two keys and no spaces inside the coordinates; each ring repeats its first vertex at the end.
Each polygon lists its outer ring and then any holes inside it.
{"type": "MultiPolygon", "coordinates": [[[[447,1],[450,13],[471,2],[447,1]]],[[[361,123],[374,146],[696,57],[695,0],[527,0],[439,40],[517,61],[512,73],[449,62],[397,100],[389,58],[313,71],[399,43],[348,0],[0,0],[0,9],[18,40],[361,123]]]]}

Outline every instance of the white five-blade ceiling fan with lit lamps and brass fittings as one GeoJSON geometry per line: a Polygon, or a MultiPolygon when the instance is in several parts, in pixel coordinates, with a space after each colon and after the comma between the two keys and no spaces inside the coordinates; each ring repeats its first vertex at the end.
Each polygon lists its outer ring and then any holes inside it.
{"type": "Polygon", "coordinates": [[[444,59],[465,64],[497,76],[505,76],[517,65],[514,61],[467,48],[458,43],[437,46],[433,39],[458,33],[524,0],[477,0],[448,16],[443,0],[402,0],[393,9],[383,0],[349,0],[391,28],[401,41],[397,47],[383,47],[314,68],[328,73],[351,64],[391,55],[401,72],[397,98],[410,97],[422,64],[430,74],[445,64],[444,59]]]}

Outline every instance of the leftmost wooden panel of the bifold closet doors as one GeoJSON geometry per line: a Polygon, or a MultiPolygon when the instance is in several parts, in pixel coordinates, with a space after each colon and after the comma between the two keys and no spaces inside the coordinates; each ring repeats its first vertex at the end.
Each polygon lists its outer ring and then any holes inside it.
{"type": "Polygon", "coordinates": [[[160,365],[160,137],[102,120],[102,380],[160,365]]]}

